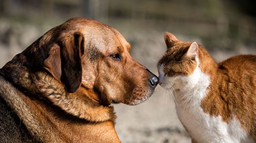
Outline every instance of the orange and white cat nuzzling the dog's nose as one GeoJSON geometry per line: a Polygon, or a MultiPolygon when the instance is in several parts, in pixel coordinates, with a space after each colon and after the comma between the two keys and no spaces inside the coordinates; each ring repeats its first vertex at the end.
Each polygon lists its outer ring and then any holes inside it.
{"type": "Polygon", "coordinates": [[[172,91],[193,143],[256,142],[256,56],[216,63],[196,42],[165,33],[159,84],[172,91]]]}

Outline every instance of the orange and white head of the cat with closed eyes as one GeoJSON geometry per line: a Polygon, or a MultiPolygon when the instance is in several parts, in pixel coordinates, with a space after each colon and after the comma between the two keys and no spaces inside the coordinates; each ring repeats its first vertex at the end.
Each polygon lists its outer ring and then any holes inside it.
{"type": "Polygon", "coordinates": [[[167,50],[157,65],[159,85],[171,90],[195,85],[200,76],[198,44],[182,42],[168,32],[165,43],[167,50]]]}

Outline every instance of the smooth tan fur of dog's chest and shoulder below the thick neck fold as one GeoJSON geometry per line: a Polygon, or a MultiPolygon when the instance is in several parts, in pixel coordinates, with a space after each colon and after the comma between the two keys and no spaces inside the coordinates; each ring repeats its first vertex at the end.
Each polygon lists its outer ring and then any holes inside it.
{"type": "Polygon", "coordinates": [[[2,75],[0,85],[1,98],[18,115],[33,138],[40,142],[92,143],[94,140],[97,143],[120,143],[111,120],[95,123],[66,114],[49,100],[33,98],[27,92],[19,91],[2,75]]]}

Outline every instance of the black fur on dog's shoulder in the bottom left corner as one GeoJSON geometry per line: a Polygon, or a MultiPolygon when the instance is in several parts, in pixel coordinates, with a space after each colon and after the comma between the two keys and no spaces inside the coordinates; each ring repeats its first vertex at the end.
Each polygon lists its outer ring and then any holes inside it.
{"type": "MultiPolygon", "coordinates": [[[[1,95],[2,96],[2,95],[1,95]]],[[[2,143],[37,143],[18,115],[0,96],[0,140],[2,143]]]]}

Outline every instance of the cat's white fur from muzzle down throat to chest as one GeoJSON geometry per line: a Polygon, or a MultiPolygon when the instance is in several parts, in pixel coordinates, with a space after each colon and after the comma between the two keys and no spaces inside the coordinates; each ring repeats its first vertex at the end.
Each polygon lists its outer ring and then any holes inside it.
{"type": "Polygon", "coordinates": [[[174,94],[178,117],[193,139],[199,143],[253,143],[235,117],[226,123],[221,116],[211,117],[203,111],[201,100],[206,96],[210,79],[199,66],[189,76],[168,77],[163,69],[161,65],[159,82],[174,94]]]}

